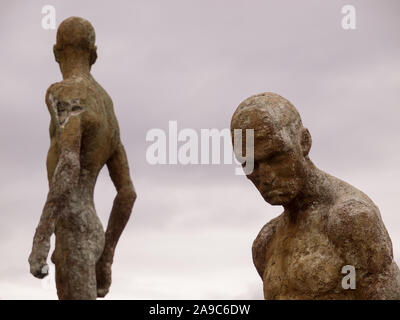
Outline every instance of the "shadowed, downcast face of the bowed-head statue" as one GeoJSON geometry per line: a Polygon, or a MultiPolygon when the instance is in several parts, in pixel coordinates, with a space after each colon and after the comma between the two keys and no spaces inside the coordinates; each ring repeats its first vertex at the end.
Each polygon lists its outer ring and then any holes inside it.
{"type": "Polygon", "coordinates": [[[247,178],[268,203],[289,204],[301,191],[305,176],[300,139],[288,128],[277,129],[258,112],[248,119],[245,127],[254,129],[254,170],[247,178]]]}

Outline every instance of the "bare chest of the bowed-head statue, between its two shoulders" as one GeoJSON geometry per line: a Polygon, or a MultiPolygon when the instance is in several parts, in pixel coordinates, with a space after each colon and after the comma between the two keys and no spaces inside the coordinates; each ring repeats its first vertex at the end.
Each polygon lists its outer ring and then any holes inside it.
{"type": "Polygon", "coordinates": [[[328,210],[303,212],[296,223],[285,214],[278,220],[266,255],[266,299],[324,299],[339,291],[343,263],[323,230],[328,210]]]}

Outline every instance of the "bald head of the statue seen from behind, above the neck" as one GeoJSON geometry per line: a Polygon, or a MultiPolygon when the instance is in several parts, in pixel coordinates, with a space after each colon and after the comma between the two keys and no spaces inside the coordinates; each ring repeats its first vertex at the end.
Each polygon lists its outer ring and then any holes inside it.
{"type": "Polygon", "coordinates": [[[95,40],[94,28],[88,20],[79,17],[65,19],[57,30],[54,45],[56,61],[60,62],[67,50],[73,50],[88,53],[89,64],[92,65],[97,58],[95,40]]]}

